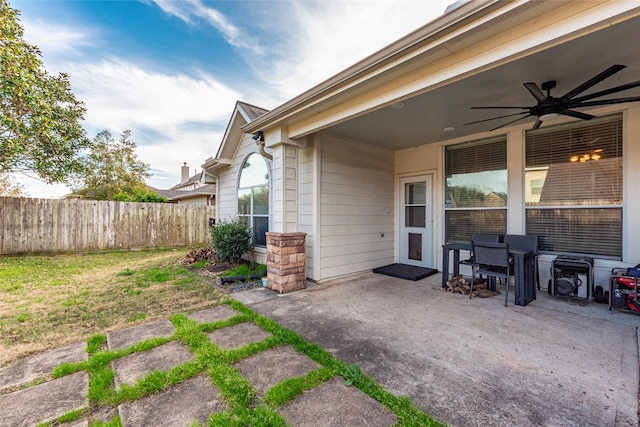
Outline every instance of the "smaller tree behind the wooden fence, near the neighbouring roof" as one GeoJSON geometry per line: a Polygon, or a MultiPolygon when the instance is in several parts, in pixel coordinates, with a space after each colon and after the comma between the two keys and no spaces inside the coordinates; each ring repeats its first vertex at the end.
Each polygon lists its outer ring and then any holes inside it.
{"type": "Polygon", "coordinates": [[[138,160],[131,131],[125,130],[116,141],[108,130],[93,139],[84,158],[84,171],[76,178],[74,193],[93,200],[134,200],[148,192],[144,183],[151,176],[149,165],[138,160]]]}

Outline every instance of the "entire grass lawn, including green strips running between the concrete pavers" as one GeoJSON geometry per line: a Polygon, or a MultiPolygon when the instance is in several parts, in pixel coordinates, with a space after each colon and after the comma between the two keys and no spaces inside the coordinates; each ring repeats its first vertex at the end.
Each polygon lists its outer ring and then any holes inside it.
{"type": "MultiPolygon", "coordinates": [[[[121,427],[115,408],[127,401],[166,390],[202,373],[220,389],[228,409],[210,416],[209,426],[286,426],[277,409],[296,396],[334,377],[354,386],[394,412],[400,426],[440,426],[406,397],[397,397],[377,385],[356,365],[347,366],[320,346],[307,343],[211,284],[211,277],[177,263],[182,251],[141,251],[87,255],[0,258],[0,367],[30,353],[85,341],[85,362],[58,366],[53,377],[74,372],[89,374],[89,405],[64,414],[51,423],[89,419],[91,427],[121,427]],[[225,321],[198,324],[184,313],[229,304],[239,314],[225,321]],[[169,319],[176,332],[125,350],[109,351],[106,332],[169,319]],[[253,322],[271,336],[239,349],[224,350],[207,333],[243,322],[253,322]],[[180,341],[195,355],[193,361],[168,372],[153,371],[133,386],[117,391],[111,362],[126,355],[180,341]],[[272,387],[257,399],[251,384],[233,363],[284,344],[295,347],[321,367],[272,387]],[[100,415],[102,414],[102,415],[100,415]],[[104,414],[109,415],[103,420],[104,414]],[[97,418],[96,418],[97,417],[97,418]]],[[[198,265],[203,267],[203,265],[198,265]]]]}

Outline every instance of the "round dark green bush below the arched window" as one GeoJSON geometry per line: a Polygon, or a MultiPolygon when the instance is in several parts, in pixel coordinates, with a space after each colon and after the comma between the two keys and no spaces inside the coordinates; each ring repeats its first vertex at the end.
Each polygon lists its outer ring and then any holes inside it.
{"type": "Polygon", "coordinates": [[[243,218],[222,221],[211,228],[211,241],[218,261],[237,265],[252,248],[251,227],[243,218]]]}

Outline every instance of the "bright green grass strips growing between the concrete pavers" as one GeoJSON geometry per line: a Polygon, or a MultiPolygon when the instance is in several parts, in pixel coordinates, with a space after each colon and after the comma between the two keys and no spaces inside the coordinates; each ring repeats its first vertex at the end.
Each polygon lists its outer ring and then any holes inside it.
{"type": "MultiPolygon", "coordinates": [[[[104,407],[115,407],[124,402],[159,393],[189,378],[205,374],[220,390],[227,409],[212,414],[209,426],[286,426],[286,420],[277,412],[282,405],[295,399],[307,390],[341,377],[346,385],[357,387],[396,414],[398,426],[441,426],[429,415],[416,408],[406,397],[397,397],[387,392],[365,375],[357,365],[346,365],[316,344],[306,342],[295,332],[279,326],[272,320],[255,313],[237,301],[227,301],[238,315],[230,319],[199,324],[183,314],[170,317],[176,331],[170,338],[158,338],[138,343],[118,351],[100,350],[104,335],[95,335],[88,340],[90,357],[80,363],[59,366],[54,377],[59,378],[81,370],[89,374],[89,411],[104,407]],[[263,341],[247,344],[238,349],[223,349],[207,339],[207,333],[239,324],[254,322],[272,335],[263,341]],[[170,341],[180,341],[195,355],[194,359],[176,366],[167,372],[154,371],[133,385],[123,385],[116,391],[113,387],[114,372],[111,362],[136,352],[150,350],[170,341]],[[258,399],[249,381],[233,366],[235,362],[251,357],[261,351],[281,345],[291,345],[317,362],[321,367],[301,377],[289,378],[273,386],[263,399],[258,399]]],[[[78,416],[83,413],[76,414],[78,416]]],[[[74,414],[65,414],[73,419],[74,414]]],[[[91,413],[87,415],[91,418],[91,413]]],[[[60,420],[57,420],[60,421],[60,420]]],[[[96,426],[119,426],[116,416],[111,421],[90,423],[96,426]]]]}

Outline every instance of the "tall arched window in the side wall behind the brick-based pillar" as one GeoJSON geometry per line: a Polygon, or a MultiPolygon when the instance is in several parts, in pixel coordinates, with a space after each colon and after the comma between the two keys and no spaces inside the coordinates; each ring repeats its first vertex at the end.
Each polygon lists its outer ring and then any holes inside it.
{"type": "Polygon", "coordinates": [[[269,231],[269,169],[259,154],[250,154],[240,169],[238,216],[253,230],[253,244],[266,246],[269,231]]]}

